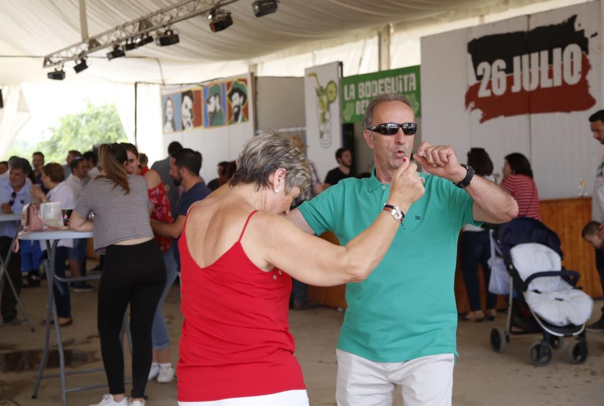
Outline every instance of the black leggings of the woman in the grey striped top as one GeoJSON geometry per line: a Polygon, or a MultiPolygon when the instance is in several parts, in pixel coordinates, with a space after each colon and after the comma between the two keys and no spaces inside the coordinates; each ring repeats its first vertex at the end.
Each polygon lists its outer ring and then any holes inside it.
{"type": "Polygon", "coordinates": [[[142,398],[153,358],[151,327],[165,286],[165,265],[155,239],[138,245],[107,247],[98,286],[98,334],[109,393],[124,389],[120,330],[130,303],[132,398],[142,398]]]}

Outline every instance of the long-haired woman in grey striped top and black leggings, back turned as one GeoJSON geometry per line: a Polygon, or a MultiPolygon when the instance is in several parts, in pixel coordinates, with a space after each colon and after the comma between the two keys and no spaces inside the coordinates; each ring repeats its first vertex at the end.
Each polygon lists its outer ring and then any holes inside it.
{"type": "Polygon", "coordinates": [[[152,362],[153,315],[165,286],[165,266],[149,221],[147,182],[128,175],[120,144],[99,148],[101,175],[84,188],[69,219],[74,231],[93,231],[94,250],[105,254],[98,285],[98,335],[109,394],[92,406],[143,406],[152,362]],[[94,213],[94,222],[89,214],[94,213]],[[132,399],[124,389],[120,330],[130,305],[132,399]]]}

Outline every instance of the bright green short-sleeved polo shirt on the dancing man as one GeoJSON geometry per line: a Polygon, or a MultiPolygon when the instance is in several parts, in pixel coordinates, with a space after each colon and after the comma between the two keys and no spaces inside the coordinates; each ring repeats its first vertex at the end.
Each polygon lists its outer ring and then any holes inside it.
{"type": "MultiPolygon", "coordinates": [[[[382,262],[360,283],[346,286],[348,309],[338,348],[381,363],[454,353],[457,238],[474,200],[451,181],[423,175],[426,193],[405,213],[382,262]]],[[[369,227],[390,195],[371,178],[338,182],[300,207],[317,235],[333,231],[341,245],[369,227]]],[[[393,220],[394,221],[394,220],[393,220]]]]}

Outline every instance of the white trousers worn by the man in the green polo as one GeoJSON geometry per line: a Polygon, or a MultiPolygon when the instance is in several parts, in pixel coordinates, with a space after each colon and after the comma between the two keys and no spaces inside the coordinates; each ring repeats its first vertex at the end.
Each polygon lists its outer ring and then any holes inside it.
{"type": "Polygon", "coordinates": [[[391,406],[396,386],[405,406],[450,406],[455,355],[422,356],[403,363],[376,363],[336,350],[338,406],[391,406]]]}

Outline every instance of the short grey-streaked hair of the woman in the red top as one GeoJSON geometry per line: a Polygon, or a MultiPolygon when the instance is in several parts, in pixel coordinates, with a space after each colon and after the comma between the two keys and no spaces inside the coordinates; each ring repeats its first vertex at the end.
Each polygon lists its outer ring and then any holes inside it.
{"type": "Polygon", "coordinates": [[[285,169],[285,192],[297,186],[300,193],[310,187],[310,164],[298,144],[274,130],[266,130],[246,141],[237,158],[237,170],[231,186],[254,183],[258,188],[269,186],[268,177],[277,169],[285,169]]]}

